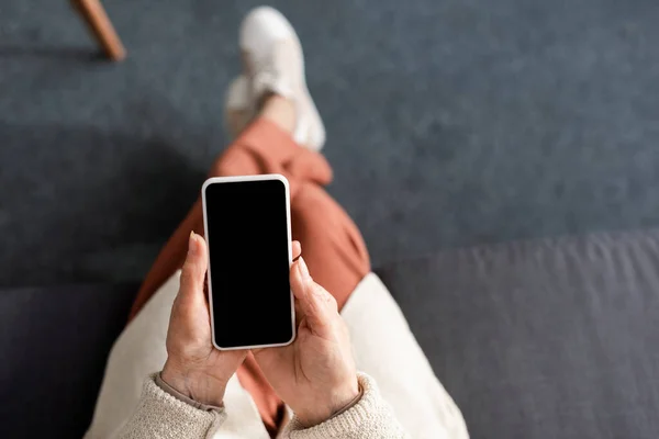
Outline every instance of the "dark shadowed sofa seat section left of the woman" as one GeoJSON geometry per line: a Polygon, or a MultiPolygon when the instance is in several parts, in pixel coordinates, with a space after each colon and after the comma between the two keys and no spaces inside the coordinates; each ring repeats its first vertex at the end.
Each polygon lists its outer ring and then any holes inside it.
{"type": "Polygon", "coordinates": [[[0,291],[2,437],[80,438],[136,285],[0,291]]]}

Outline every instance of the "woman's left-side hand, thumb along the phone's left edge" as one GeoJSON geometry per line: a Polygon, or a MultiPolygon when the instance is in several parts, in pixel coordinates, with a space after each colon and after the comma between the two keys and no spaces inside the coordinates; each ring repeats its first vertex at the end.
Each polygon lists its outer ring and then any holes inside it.
{"type": "Polygon", "coordinates": [[[204,293],[208,251],[203,238],[190,234],[188,256],[167,331],[167,362],[160,378],[183,395],[220,406],[226,383],[245,360],[246,350],[213,347],[204,293]]]}

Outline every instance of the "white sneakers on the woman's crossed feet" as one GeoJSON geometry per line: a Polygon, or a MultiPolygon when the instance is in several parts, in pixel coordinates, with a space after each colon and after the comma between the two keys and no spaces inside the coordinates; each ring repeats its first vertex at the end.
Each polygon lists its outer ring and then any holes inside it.
{"type": "MultiPolygon", "coordinates": [[[[264,94],[282,95],[293,102],[298,113],[293,139],[320,150],[325,127],[306,88],[302,45],[288,20],[269,7],[252,10],[241,25],[239,45],[245,72],[228,88],[226,112],[247,110],[254,117],[264,94]]],[[[234,135],[244,127],[233,125],[230,132],[234,135]]]]}

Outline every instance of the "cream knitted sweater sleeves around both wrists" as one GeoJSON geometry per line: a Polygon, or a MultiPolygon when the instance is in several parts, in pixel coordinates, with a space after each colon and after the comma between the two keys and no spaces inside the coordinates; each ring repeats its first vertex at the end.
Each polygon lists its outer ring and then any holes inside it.
{"type": "MultiPolygon", "coordinates": [[[[364,395],[349,409],[320,424],[304,428],[295,417],[284,427],[280,438],[298,439],[383,439],[406,438],[403,428],[393,416],[389,405],[380,396],[375,381],[358,375],[364,395]]],[[[231,438],[225,423],[231,416],[224,408],[202,410],[171,396],[149,378],[142,390],[142,398],[135,414],[120,432],[120,438],[231,438]]]]}

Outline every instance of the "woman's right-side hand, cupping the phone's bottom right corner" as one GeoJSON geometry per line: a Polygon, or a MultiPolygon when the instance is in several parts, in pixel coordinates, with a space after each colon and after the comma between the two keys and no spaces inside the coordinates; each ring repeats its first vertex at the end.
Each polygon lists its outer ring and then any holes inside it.
{"type": "Polygon", "coordinates": [[[298,337],[282,348],[254,350],[279,395],[311,427],[328,419],[359,395],[348,329],[336,301],[309,275],[300,258],[291,267],[298,337]]]}

